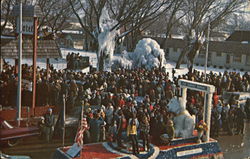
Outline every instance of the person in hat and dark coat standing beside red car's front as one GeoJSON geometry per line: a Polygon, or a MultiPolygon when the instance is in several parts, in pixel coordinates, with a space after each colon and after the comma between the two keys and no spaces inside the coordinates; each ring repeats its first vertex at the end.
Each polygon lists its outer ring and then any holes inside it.
{"type": "Polygon", "coordinates": [[[55,117],[52,113],[52,109],[49,108],[48,112],[44,115],[45,136],[47,143],[50,143],[52,140],[52,135],[54,132],[54,122],[55,122],[55,117]]]}

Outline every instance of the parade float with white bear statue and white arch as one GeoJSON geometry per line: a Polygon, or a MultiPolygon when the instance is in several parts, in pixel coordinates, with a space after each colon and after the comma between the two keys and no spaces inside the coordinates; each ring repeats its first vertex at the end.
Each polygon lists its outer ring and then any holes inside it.
{"type": "Polygon", "coordinates": [[[83,146],[74,143],[72,146],[57,148],[53,158],[223,158],[219,143],[210,138],[211,103],[215,87],[183,79],[179,80],[179,85],[181,88],[180,97],[173,98],[167,105],[169,111],[176,113],[173,118],[176,138],[171,140],[169,144],[157,145],[151,141],[150,149],[144,151],[139,140],[140,153],[133,155],[130,143],[124,143],[126,145],[124,148],[118,147],[114,142],[100,142],[83,146]],[[207,125],[207,130],[203,138],[200,138],[199,132],[194,130],[194,119],[185,109],[187,89],[205,93],[204,122],[207,125]]]}

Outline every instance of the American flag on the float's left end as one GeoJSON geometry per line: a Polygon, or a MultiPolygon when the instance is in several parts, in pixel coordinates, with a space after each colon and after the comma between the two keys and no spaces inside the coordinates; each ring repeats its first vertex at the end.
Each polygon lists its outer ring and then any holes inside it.
{"type": "Polygon", "coordinates": [[[83,133],[85,130],[87,130],[88,127],[88,123],[86,118],[82,118],[77,133],[76,133],[76,137],[75,137],[75,142],[79,145],[79,146],[83,146],[83,133]]]}

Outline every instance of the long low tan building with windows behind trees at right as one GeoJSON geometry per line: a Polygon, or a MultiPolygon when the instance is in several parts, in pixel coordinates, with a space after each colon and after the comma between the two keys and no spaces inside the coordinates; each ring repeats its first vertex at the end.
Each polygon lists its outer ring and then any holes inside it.
{"type": "MultiPolygon", "coordinates": [[[[153,39],[158,43],[164,40],[159,37],[153,39]]],[[[183,39],[168,38],[163,49],[169,60],[177,61],[185,46],[186,41],[183,39]]],[[[235,31],[226,40],[209,41],[208,50],[208,66],[250,71],[250,31],[235,31]]],[[[199,55],[195,57],[194,64],[204,66],[205,54],[204,45],[199,55]]]]}

